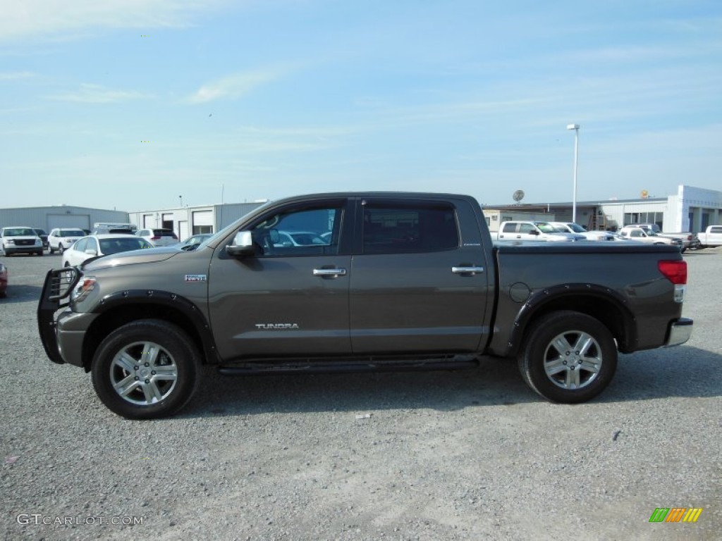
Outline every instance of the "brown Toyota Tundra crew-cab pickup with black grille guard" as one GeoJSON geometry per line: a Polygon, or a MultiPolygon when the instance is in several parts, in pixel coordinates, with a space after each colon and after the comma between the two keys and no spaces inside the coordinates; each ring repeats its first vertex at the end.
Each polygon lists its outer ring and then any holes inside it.
{"type": "Polygon", "coordinates": [[[268,203],[196,250],[125,252],[48,273],[48,357],[110,410],[183,408],[222,374],[404,371],[514,359],[548,400],[611,381],[617,352],[684,343],[687,265],[673,246],[494,245],[466,195],[331,193],[268,203]]]}

